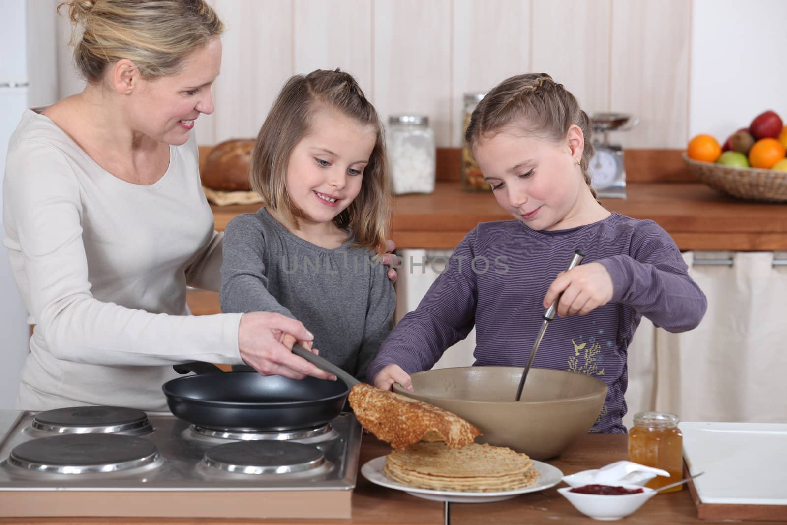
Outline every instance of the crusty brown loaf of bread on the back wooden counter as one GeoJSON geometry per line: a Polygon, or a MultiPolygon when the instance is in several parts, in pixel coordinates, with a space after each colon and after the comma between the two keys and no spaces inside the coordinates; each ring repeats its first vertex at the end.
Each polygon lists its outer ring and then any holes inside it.
{"type": "Polygon", "coordinates": [[[249,191],[249,168],[253,139],[233,139],[221,142],[208,153],[200,177],[202,185],[212,190],[249,191]]]}

